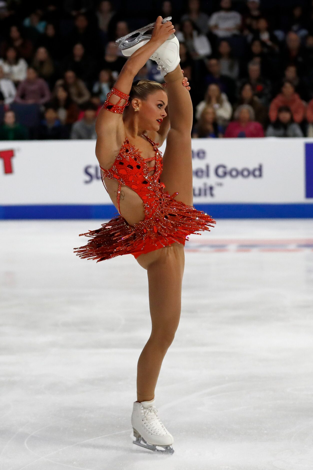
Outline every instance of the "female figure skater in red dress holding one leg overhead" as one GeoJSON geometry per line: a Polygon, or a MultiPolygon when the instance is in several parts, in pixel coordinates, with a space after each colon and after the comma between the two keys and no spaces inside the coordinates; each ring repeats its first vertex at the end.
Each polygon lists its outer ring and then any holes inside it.
{"type": "Polygon", "coordinates": [[[159,16],[151,39],[123,51],[130,57],[96,123],[102,182],[120,215],[82,234],[91,240],[75,249],[81,258],[97,261],[130,253],[147,271],[152,331],[137,365],[133,442],[169,453],[174,439],[158,417],[154,390],[180,319],[186,237],[215,223],[192,206],[192,103],[174,32],[159,16]],[[149,58],[159,64],[166,86],[149,80],[133,84],[149,58]],[[162,158],[158,147],[165,138],[162,158]]]}

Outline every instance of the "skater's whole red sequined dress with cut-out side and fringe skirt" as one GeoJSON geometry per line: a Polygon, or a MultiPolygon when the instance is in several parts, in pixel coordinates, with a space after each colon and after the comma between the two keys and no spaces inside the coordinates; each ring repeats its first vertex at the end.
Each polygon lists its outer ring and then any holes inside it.
{"type": "MultiPolygon", "coordinates": [[[[145,135],[145,134],[142,134],[145,135]]],[[[188,235],[198,230],[210,231],[215,220],[195,207],[176,201],[178,193],[169,195],[164,183],[160,181],[162,156],[160,150],[149,137],[153,145],[155,158],[142,158],[141,151],[136,149],[126,137],[114,164],[109,170],[101,168],[101,179],[104,177],[119,181],[117,190],[117,208],[121,186],[133,189],[143,200],[145,219],[131,226],[123,217],[111,219],[97,230],[90,230],[81,235],[91,240],[75,252],[80,258],[104,259],[119,255],[132,254],[137,258],[142,253],[158,250],[174,242],[185,244],[188,235]],[[155,160],[154,167],[148,167],[146,161],[155,160]],[[155,170],[153,175],[150,171],[155,170]]],[[[201,234],[197,234],[201,235],[201,234]]]]}

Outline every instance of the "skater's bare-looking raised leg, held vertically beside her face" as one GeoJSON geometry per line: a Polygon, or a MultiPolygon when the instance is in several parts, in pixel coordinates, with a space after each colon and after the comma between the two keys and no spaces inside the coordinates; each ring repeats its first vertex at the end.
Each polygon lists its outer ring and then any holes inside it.
{"type": "Polygon", "coordinates": [[[182,84],[182,69],[165,75],[168,92],[168,115],[171,128],[166,140],[161,181],[170,196],[178,192],[177,201],[192,205],[191,129],[192,102],[189,91],[182,84]]]}

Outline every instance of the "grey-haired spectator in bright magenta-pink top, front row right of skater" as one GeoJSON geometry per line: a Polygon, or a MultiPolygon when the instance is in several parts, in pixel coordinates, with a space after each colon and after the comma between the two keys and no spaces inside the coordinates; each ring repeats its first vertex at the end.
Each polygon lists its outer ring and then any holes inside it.
{"type": "Polygon", "coordinates": [[[224,137],[264,137],[263,127],[254,119],[254,111],[249,104],[239,106],[232,121],[225,132],[224,137]]]}

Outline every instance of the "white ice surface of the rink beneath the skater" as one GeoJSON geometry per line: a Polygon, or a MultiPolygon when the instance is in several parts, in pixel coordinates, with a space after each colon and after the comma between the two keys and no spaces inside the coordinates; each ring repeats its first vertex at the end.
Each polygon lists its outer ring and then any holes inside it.
{"type": "Polygon", "coordinates": [[[312,470],[313,219],[218,220],[186,243],[156,406],[132,444],[146,271],[72,249],[99,220],[0,223],[1,470],[312,470]]]}

